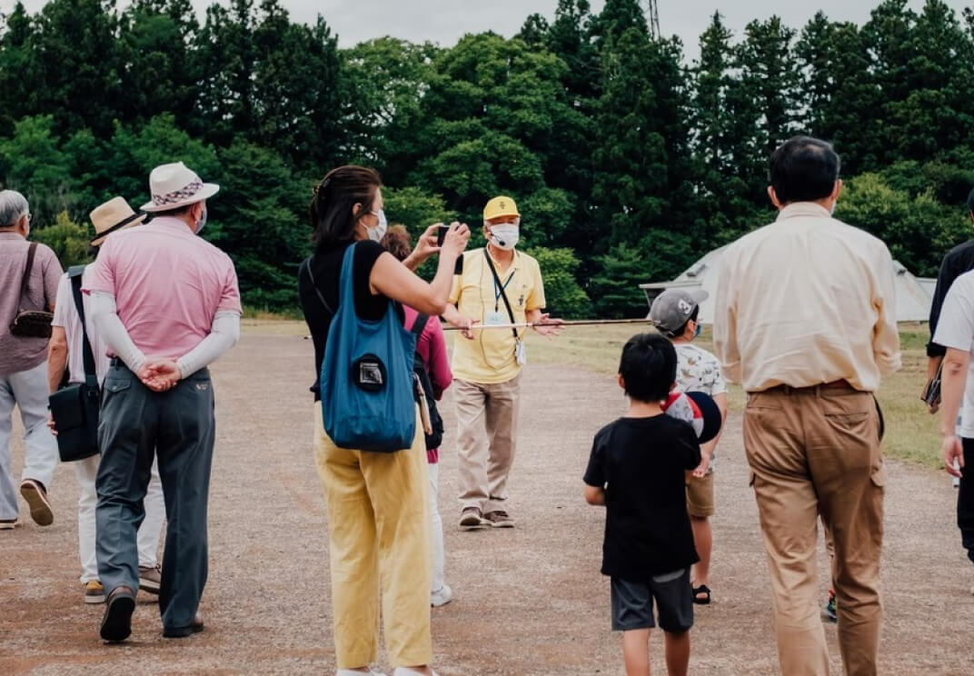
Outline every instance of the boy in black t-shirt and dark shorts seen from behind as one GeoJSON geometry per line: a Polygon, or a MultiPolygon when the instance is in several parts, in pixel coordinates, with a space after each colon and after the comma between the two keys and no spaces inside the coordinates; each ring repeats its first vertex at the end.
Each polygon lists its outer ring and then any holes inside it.
{"type": "Polygon", "coordinates": [[[664,415],[676,380],[676,351],[659,334],[633,336],[622,348],[618,384],[625,416],[595,435],[585,470],[585,501],[606,506],[602,573],[612,579],[612,626],[622,631],[629,676],[650,673],[650,629],[666,634],[669,676],[687,673],[693,590],[699,560],[687,513],[684,472],[700,463],[693,429],[664,415]]]}

